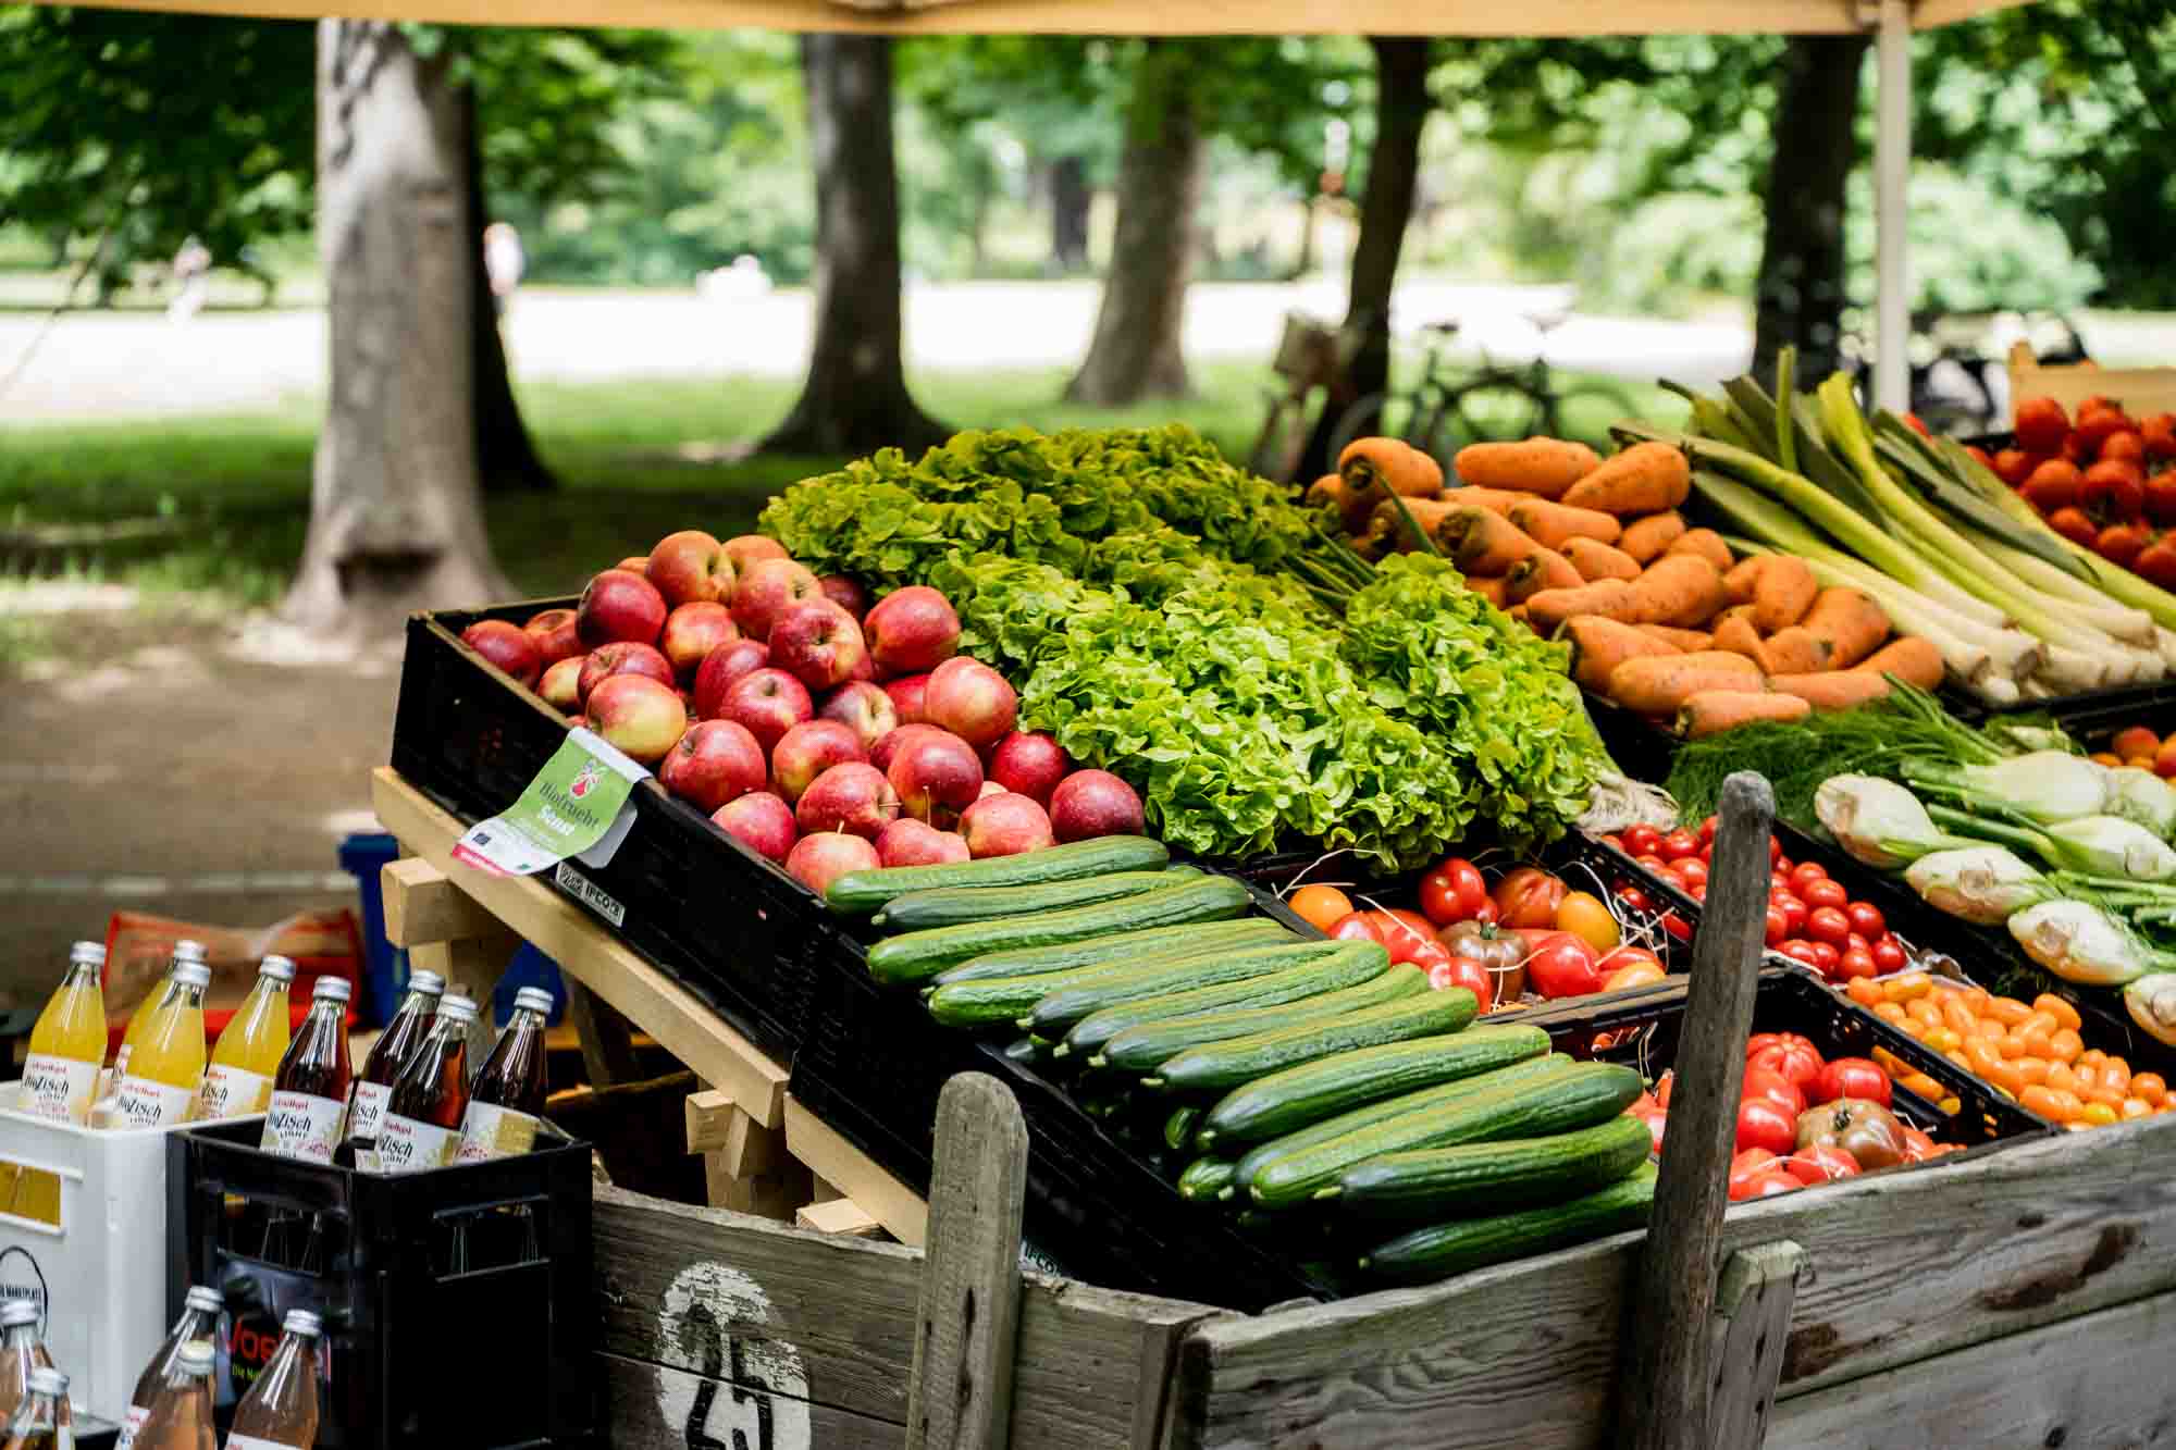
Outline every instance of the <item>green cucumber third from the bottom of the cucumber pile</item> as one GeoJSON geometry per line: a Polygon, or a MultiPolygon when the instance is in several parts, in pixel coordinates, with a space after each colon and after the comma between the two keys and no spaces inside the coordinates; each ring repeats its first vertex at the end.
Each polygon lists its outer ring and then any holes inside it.
{"type": "Polygon", "coordinates": [[[1408,1147],[1545,1139],[1551,1132],[1593,1128],[1630,1108],[1643,1086],[1636,1071],[1615,1062],[1575,1062],[1538,1080],[1506,1086],[1484,1084],[1486,1078],[1473,1078],[1432,1089],[1445,1095],[1434,1106],[1401,1113],[1299,1152],[1273,1154],[1256,1167],[1247,1191],[1264,1208],[1290,1208],[1316,1197],[1336,1197],[1338,1176],[1362,1158],[1406,1152],[1408,1147]]]}

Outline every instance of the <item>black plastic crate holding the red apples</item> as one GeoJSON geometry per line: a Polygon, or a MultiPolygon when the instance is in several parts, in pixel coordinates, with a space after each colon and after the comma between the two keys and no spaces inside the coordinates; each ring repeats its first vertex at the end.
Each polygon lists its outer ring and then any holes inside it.
{"type": "MultiPolygon", "coordinates": [[[[568,732],[557,710],[463,649],[461,629],[479,618],[522,623],[572,603],[540,599],[409,620],[392,766],[461,821],[511,806],[568,732]]],[[[566,862],[548,880],[757,1047],[790,1058],[807,1017],[809,960],[831,934],[829,912],[816,893],[657,782],[629,799],[635,827],[611,862],[566,862]]]]}

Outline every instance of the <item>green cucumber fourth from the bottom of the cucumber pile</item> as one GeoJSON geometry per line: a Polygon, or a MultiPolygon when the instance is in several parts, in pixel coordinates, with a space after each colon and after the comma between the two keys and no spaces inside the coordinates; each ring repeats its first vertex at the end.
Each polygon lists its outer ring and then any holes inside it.
{"type": "Polygon", "coordinates": [[[1541,1028],[1473,1028],[1454,1036],[1423,1036],[1340,1052],[1282,1073],[1256,1078],[1225,1093],[1201,1119],[1201,1147],[1216,1143],[1262,1143],[1347,1108],[1412,1093],[1438,1082],[1538,1058],[1549,1049],[1541,1028]]]}

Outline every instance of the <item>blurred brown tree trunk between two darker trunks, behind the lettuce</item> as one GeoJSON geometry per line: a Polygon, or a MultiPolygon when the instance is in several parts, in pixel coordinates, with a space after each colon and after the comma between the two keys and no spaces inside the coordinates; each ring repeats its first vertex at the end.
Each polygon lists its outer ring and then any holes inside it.
{"type": "Polygon", "coordinates": [[[1118,157],[1118,229],[1095,340],[1066,398],[1116,407],[1186,396],[1186,281],[1195,266],[1201,202],[1201,124],[1192,57],[1179,41],[1149,41],[1134,72],[1134,100],[1118,157]]]}

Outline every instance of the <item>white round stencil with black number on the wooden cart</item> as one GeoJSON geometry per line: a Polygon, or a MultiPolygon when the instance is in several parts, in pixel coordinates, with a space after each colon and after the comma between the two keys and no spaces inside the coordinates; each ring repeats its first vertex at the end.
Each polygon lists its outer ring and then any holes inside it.
{"type": "Polygon", "coordinates": [[[703,1369],[694,1389],[683,1376],[659,1376],[657,1413],[683,1428],[688,1450],[812,1450],[801,1350],[725,1332],[725,1324],[768,1322],[770,1295],[740,1269],[692,1263],[672,1278],[657,1337],[703,1369]]]}

